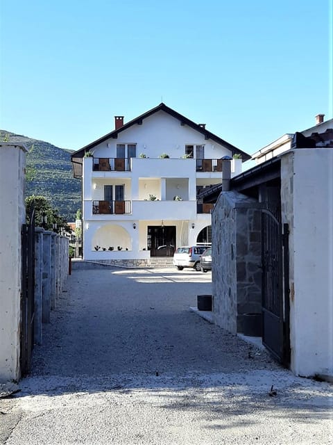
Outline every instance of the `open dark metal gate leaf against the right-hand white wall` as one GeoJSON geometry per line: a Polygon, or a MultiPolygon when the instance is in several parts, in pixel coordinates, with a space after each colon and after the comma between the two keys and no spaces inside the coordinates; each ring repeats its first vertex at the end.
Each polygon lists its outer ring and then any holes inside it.
{"type": "Polygon", "coordinates": [[[285,366],[290,362],[288,234],[279,211],[262,209],[262,343],[285,366]]]}

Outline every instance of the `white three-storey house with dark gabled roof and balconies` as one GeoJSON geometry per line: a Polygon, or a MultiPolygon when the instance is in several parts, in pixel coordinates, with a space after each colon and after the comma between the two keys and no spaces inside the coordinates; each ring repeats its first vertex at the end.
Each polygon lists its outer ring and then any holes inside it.
{"type": "Polygon", "coordinates": [[[211,242],[212,204],[197,195],[219,184],[222,158],[232,176],[250,156],[165,104],[71,156],[83,184],[83,259],[149,264],[178,245],[211,242]],[[236,156],[236,157],[237,157],[236,156]]]}

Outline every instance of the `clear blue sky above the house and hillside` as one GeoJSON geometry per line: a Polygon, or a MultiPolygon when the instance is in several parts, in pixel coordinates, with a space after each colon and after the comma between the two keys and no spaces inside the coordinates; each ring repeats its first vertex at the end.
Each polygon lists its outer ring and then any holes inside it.
{"type": "Polygon", "coordinates": [[[79,149],[164,102],[248,153],[332,118],[332,0],[2,0],[0,128],[79,149]]]}

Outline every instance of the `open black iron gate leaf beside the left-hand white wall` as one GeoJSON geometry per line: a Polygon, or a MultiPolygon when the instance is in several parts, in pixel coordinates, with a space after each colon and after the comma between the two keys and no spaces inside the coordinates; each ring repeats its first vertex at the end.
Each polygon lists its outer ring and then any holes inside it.
{"type": "Polygon", "coordinates": [[[29,224],[22,225],[22,291],[21,291],[21,375],[31,369],[33,351],[33,318],[35,289],[35,211],[29,216],[29,224]]]}

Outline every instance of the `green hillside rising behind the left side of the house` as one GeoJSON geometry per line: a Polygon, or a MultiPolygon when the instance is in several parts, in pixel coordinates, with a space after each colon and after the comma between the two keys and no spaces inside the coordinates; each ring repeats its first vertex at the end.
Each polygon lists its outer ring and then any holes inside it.
{"type": "Polygon", "coordinates": [[[60,216],[74,221],[81,207],[81,183],[73,177],[71,151],[6,130],[0,130],[0,136],[2,141],[24,144],[28,149],[26,166],[35,174],[32,181],[26,181],[26,196],[47,197],[60,216]]]}

